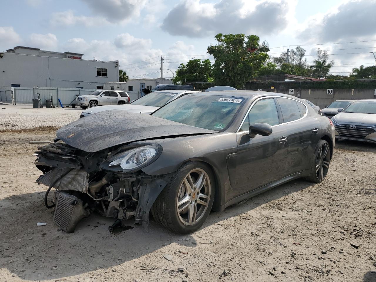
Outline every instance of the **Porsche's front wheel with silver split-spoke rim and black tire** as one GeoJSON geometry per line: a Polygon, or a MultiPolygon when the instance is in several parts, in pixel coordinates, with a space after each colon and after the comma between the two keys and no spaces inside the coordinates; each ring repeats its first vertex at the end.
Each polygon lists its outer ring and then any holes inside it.
{"type": "Polygon", "coordinates": [[[188,162],[182,165],[153,204],[153,217],[172,232],[196,231],[213,206],[214,185],[214,175],[207,164],[188,162]]]}

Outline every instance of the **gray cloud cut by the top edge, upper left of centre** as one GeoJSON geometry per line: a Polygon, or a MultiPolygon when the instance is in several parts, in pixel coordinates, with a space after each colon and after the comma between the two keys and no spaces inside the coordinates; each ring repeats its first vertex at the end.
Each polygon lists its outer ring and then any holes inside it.
{"type": "Polygon", "coordinates": [[[147,0],[82,0],[98,15],[110,23],[137,19],[147,0]]]}

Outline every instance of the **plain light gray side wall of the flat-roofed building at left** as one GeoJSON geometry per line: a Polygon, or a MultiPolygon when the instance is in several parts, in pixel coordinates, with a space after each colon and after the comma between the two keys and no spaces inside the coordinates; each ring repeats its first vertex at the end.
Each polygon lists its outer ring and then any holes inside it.
{"type": "Polygon", "coordinates": [[[117,82],[119,78],[118,62],[3,53],[3,58],[0,58],[0,86],[20,84],[21,87],[80,86],[96,89],[105,82],[117,82]],[[97,76],[97,68],[107,68],[107,77],[97,76]]]}

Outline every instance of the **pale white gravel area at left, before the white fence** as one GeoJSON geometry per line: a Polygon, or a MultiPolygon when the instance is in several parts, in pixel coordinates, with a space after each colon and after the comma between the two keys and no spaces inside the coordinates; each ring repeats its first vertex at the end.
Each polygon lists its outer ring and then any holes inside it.
{"type": "Polygon", "coordinates": [[[0,132],[59,128],[80,117],[81,108],[33,109],[32,105],[0,105],[0,132]]]}

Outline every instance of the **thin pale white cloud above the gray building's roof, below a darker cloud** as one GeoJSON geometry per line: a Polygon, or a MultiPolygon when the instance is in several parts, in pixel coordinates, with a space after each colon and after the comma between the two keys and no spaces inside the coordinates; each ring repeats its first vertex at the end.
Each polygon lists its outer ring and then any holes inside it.
{"type": "Polygon", "coordinates": [[[89,27],[98,26],[99,24],[102,26],[103,24],[109,24],[109,22],[103,17],[76,16],[73,11],[68,10],[52,13],[50,24],[52,26],[74,26],[80,24],[89,27]]]}

